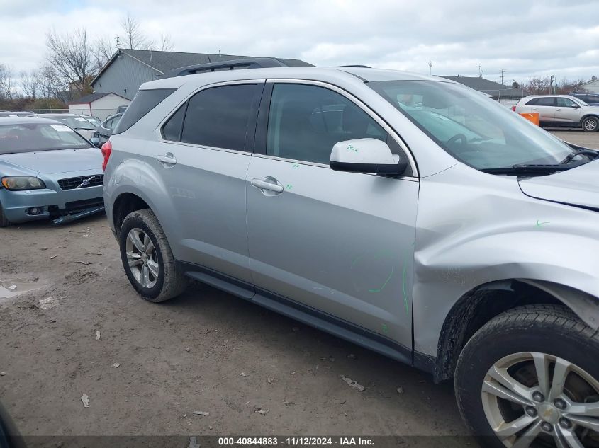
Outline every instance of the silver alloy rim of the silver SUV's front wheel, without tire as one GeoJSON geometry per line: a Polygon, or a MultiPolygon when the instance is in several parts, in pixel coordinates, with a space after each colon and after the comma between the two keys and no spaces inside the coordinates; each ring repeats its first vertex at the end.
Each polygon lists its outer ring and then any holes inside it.
{"type": "Polygon", "coordinates": [[[489,425],[508,448],[599,447],[599,381],[540,352],[503,357],[481,389],[489,425]]]}

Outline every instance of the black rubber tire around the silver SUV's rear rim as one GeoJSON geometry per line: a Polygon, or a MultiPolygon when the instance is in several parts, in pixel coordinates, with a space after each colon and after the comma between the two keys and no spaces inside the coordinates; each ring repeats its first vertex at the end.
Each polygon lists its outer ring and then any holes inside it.
{"type": "Polygon", "coordinates": [[[133,285],[143,299],[152,302],[165,301],[177,297],[181,292],[184,292],[189,284],[189,279],[181,272],[177,263],[175,263],[167,237],[164,235],[162,226],[160,226],[152,210],[142,209],[128,214],[121,225],[118,242],[121,246],[121,261],[125,273],[131,285],[133,285]],[[132,268],[129,266],[126,242],[131,229],[141,229],[144,231],[154,245],[158,262],[158,276],[155,285],[152,287],[142,286],[135,279],[132,268]]]}

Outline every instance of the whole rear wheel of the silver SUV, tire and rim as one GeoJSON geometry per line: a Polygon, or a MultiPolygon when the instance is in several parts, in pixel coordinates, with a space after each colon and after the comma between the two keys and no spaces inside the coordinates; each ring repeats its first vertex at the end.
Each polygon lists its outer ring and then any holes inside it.
{"type": "Polygon", "coordinates": [[[118,238],[131,285],[147,301],[165,301],[184,292],[189,280],[177,267],[162,226],[150,209],[123,220],[118,238]]]}

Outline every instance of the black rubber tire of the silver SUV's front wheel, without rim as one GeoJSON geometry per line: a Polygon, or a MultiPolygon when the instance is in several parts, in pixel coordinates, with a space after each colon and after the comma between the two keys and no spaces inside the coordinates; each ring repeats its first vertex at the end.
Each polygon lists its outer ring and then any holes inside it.
{"type": "Polygon", "coordinates": [[[528,305],[496,316],[466,343],[455,374],[460,413],[483,447],[505,448],[491,429],[483,409],[483,380],[493,364],[518,352],[542,352],[560,357],[599,379],[599,336],[569,309],[528,305]]]}

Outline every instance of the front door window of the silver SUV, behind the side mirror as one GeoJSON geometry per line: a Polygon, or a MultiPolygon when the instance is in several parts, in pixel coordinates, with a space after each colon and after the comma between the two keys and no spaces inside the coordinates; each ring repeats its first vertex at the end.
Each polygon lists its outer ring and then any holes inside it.
{"type": "Polygon", "coordinates": [[[388,142],[387,132],[340,93],[306,84],[275,84],[267,155],[329,164],[332,147],[351,139],[388,142]]]}

